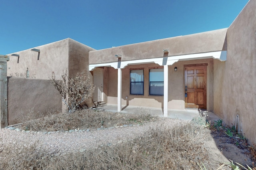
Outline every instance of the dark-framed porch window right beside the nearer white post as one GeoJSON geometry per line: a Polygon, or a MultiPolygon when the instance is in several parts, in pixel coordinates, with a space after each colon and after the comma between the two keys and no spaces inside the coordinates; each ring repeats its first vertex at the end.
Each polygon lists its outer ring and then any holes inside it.
{"type": "Polygon", "coordinates": [[[164,96],[164,69],[149,70],[149,95],[164,96]]]}

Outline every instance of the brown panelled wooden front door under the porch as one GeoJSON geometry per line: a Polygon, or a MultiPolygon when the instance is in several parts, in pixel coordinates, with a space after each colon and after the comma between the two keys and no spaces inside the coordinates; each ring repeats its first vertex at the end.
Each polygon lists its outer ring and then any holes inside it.
{"type": "Polygon", "coordinates": [[[185,107],[206,108],[206,80],[208,64],[185,65],[185,107]],[[186,97],[187,96],[187,97],[186,97]]]}

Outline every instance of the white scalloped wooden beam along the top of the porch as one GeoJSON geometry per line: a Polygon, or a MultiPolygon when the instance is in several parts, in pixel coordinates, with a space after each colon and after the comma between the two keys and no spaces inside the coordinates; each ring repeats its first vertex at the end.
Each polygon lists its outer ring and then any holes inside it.
{"type": "Polygon", "coordinates": [[[227,51],[216,51],[216,52],[209,52],[209,53],[198,53],[198,54],[189,54],[189,55],[177,55],[177,56],[170,56],[170,57],[159,57],[154,59],[140,59],[140,60],[130,60],[130,61],[120,61],[120,62],[112,62],[112,63],[101,63],[101,64],[90,64],[89,70],[92,71],[96,67],[103,67],[103,66],[111,66],[115,69],[117,68],[124,68],[128,65],[134,64],[147,64],[147,63],[156,63],[160,66],[163,65],[172,65],[176,62],[186,61],[186,60],[198,60],[198,59],[218,59],[220,61],[226,61],[227,58],[227,51]]]}

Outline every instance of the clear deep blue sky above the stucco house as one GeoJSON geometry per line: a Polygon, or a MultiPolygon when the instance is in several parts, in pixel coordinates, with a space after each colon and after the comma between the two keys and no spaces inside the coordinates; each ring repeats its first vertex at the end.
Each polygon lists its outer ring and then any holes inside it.
{"type": "Polygon", "coordinates": [[[0,0],[0,54],[72,38],[94,49],[229,27],[248,0],[0,0]]]}

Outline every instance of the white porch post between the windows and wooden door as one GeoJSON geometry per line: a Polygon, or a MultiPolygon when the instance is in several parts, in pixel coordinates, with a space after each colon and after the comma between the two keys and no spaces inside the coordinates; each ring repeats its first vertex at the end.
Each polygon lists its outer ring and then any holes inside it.
{"type": "Polygon", "coordinates": [[[168,65],[164,65],[164,117],[168,117],[168,65]]]}

